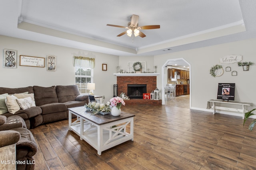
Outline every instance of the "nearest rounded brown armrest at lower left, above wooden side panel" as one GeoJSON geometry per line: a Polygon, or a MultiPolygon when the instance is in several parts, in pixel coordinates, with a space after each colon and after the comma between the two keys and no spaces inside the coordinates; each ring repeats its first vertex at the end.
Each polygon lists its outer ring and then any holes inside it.
{"type": "Polygon", "coordinates": [[[0,131],[0,147],[17,143],[20,137],[20,133],[14,130],[0,131]]]}

